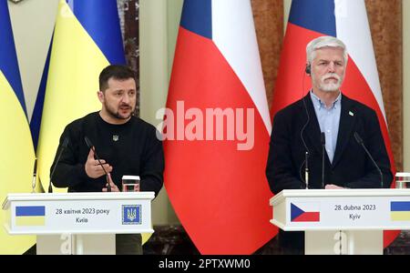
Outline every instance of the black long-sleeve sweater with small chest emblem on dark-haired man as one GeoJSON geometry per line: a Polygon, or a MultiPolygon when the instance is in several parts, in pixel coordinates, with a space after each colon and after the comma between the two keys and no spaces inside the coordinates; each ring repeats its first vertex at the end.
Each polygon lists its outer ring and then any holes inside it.
{"type": "MultiPolygon", "coordinates": [[[[164,155],[156,132],[154,126],[136,116],[123,125],[108,124],[98,112],[75,120],[60,137],[60,147],[66,137],[68,145],[56,166],[53,184],[68,187],[69,192],[97,192],[106,187],[105,176],[87,176],[87,136],[98,157],[113,167],[111,177],[118,188],[122,176],[139,176],[141,191],[154,191],[157,196],[163,185],[164,155]]],[[[56,158],[51,169],[55,164],[56,158]]]]}

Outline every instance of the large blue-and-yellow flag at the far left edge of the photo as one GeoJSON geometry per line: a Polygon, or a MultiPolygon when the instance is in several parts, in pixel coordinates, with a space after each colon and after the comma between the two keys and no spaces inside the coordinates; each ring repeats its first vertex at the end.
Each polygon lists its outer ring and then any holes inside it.
{"type": "MultiPolygon", "coordinates": [[[[26,117],[26,103],[15,54],[7,1],[0,1],[0,202],[8,193],[31,191],[35,153],[26,117]]],[[[9,236],[0,211],[0,254],[22,254],[34,236],[9,236]]]]}

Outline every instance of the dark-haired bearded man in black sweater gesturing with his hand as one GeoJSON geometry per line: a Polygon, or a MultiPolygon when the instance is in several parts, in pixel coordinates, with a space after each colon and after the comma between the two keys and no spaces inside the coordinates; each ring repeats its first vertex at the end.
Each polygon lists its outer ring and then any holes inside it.
{"type": "MultiPolygon", "coordinates": [[[[141,177],[140,190],[154,191],[157,196],[163,185],[164,155],[154,126],[132,116],[137,101],[134,72],[127,66],[108,66],[99,75],[100,111],[88,114],[66,126],[60,146],[68,139],[52,181],[68,192],[107,191],[105,171],[111,191],[121,191],[121,177],[141,177]]],[[[58,151],[57,151],[58,152],[58,151]]],[[[56,158],[51,167],[56,165],[56,158]]],[[[139,234],[116,236],[117,254],[142,254],[139,234]]]]}

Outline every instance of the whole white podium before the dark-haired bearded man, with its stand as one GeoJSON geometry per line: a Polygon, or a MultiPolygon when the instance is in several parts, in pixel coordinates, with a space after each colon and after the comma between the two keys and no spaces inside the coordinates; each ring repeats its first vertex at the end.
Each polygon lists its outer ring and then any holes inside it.
{"type": "Polygon", "coordinates": [[[115,235],[153,233],[154,192],[8,194],[5,228],[36,235],[37,254],[116,254],[115,235]]]}

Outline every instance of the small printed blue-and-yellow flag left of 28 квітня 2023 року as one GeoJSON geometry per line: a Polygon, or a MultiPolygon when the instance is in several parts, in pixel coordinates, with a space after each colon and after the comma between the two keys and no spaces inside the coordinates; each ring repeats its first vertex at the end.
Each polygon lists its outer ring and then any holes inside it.
{"type": "Polygon", "coordinates": [[[45,224],[45,206],[15,207],[15,226],[44,226],[45,224]]]}

